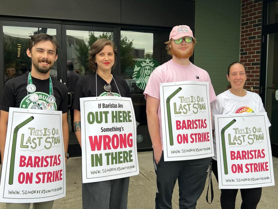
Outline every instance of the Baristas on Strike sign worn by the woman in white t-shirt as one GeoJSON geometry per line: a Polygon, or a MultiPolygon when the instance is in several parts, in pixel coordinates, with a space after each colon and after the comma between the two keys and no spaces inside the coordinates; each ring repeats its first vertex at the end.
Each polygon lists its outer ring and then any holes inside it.
{"type": "Polygon", "coordinates": [[[215,115],[220,189],[274,185],[266,112],[215,115]]]}

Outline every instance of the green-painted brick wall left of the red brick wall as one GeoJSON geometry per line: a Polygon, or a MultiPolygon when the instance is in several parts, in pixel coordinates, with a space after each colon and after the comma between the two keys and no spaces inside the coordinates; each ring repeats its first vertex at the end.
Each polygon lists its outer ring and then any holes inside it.
{"type": "Polygon", "coordinates": [[[225,91],[229,64],[239,61],[241,0],[195,2],[194,64],[209,73],[218,95],[225,91]]]}

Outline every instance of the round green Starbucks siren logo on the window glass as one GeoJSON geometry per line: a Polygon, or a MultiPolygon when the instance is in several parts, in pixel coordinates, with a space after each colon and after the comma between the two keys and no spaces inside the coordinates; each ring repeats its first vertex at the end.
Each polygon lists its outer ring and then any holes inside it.
{"type": "Polygon", "coordinates": [[[135,80],[135,85],[141,90],[145,90],[151,73],[159,66],[155,59],[150,59],[138,60],[133,66],[132,78],[135,80]]]}

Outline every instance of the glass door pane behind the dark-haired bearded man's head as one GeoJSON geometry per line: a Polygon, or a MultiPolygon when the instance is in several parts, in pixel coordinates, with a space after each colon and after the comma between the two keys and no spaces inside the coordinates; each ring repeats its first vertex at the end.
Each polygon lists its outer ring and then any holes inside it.
{"type": "MultiPolygon", "coordinates": [[[[45,33],[53,35],[58,39],[61,45],[60,31],[57,24],[43,24],[32,22],[17,22],[17,21],[2,21],[1,32],[3,39],[0,44],[0,51],[3,51],[3,57],[0,65],[1,87],[7,80],[19,75],[29,73],[31,71],[31,59],[27,56],[26,50],[30,37],[34,34],[45,33]],[[3,47],[3,48],[2,48],[3,47]],[[2,83],[3,82],[3,83],[2,83]]],[[[58,51],[58,57],[61,55],[61,50],[58,51]]],[[[50,74],[56,79],[62,79],[62,71],[58,70],[61,60],[57,60],[50,70],[50,74]]]]}

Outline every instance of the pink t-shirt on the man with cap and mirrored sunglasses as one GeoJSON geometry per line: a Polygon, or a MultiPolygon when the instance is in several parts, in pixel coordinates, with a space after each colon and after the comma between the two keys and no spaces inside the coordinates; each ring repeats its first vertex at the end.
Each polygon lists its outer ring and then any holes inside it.
{"type": "MultiPolygon", "coordinates": [[[[193,65],[183,66],[169,60],[168,62],[158,66],[150,75],[149,81],[147,83],[146,89],[144,91],[145,99],[147,94],[151,97],[157,98],[160,100],[160,83],[169,83],[169,82],[178,82],[178,81],[197,81],[196,76],[199,76],[199,81],[209,82],[209,100],[212,102],[216,99],[213,87],[211,85],[211,79],[209,74],[193,65]],[[193,70],[194,68],[194,70],[193,70]]],[[[161,109],[160,104],[157,111],[158,120],[159,120],[159,132],[160,140],[163,149],[162,142],[162,124],[161,124],[161,109]]]]}

